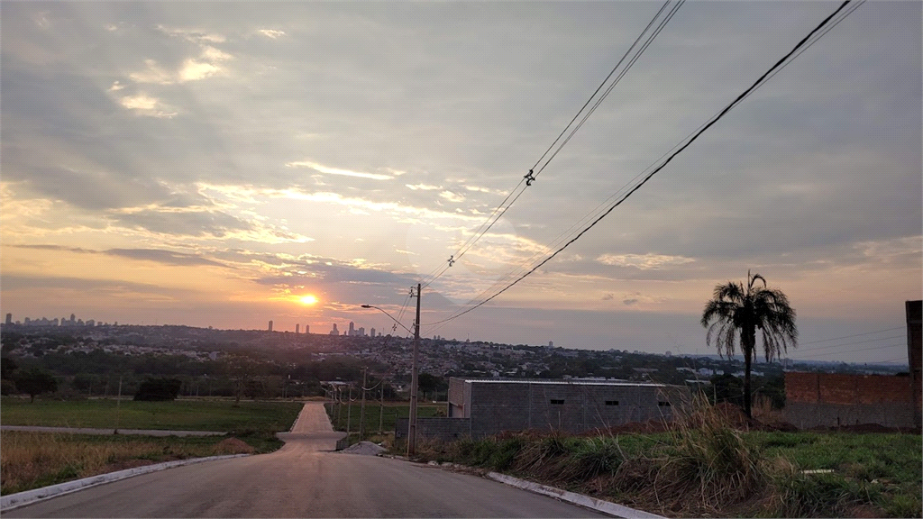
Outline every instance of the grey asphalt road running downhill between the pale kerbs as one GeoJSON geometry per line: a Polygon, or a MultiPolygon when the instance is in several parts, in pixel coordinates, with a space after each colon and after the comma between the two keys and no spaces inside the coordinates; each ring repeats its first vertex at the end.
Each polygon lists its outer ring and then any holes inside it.
{"type": "Polygon", "coordinates": [[[5,517],[605,517],[502,483],[334,453],[342,433],[306,404],[270,454],[187,465],[42,501],[5,517]]]}

